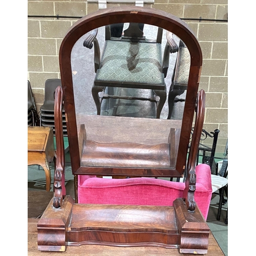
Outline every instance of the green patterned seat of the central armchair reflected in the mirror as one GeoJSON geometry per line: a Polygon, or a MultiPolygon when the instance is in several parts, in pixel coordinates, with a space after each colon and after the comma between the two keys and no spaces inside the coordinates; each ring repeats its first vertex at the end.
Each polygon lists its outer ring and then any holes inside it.
{"type": "Polygon", "coordinates": [[[161,69],[161,44],[107,40],[95,82],[133,83],[137,88],[143,88],[143,84],[164,87],[161,69]]]}

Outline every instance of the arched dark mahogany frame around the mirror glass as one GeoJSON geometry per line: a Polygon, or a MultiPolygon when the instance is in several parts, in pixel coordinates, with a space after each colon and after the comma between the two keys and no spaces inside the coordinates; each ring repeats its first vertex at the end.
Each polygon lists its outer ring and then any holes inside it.
{"type": "MultiPolygon", "coordinates": [[[[182,177],[186,164],[187,149],[190,131],[193,124],[195,105],[199,80],[202,68],[202,51],[193,31],[178,17],[153,8],[127,6],[98,10],[80,18],[66,33],[59,49],[60,77],[63,90],[63,99],[66,113],[71,166],[73,174],[92,174],[91,168],[80,165],[80,154],[78,145],[76,111],[73,91],[73,79],[71,69],[71,52],[76,41],[84,34],[93,29],[115,24],[115,23],[146,23],[161,27],[178,36],[186,45],[190,53],[190,70],[187,84],[187,96],[184,105],[184,114],[181,126],[181,135],[174,170],[162,169],[162,173],[169,173],[173,177],[182,177]]],[[[97,168],[105,170],[112,167],[97,168]]],[[[112,168],[115,169],[115,168],[112,168]]],[[[120,168],[119,168],[120,169],[120,168]]],[[[115,172],[114,172],[115,173],[115,172]]]]}

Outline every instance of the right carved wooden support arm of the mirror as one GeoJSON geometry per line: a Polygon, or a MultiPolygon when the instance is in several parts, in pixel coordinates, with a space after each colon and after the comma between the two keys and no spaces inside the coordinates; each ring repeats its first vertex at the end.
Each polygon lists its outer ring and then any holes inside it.
{"type": "Polygon", "coordinates": [[[201,90],[198,92],[197,103],[196,103],[196,121],[195,130],[193,133],[191,147],[188,154],[187,167],[185,169],[185,189],[183,192],[183,198],[188,210],[194,211],[195,204],[195,190],[196,190],[196,161],[197,152],[200,142],[200,137],[203,129],[205,113],[205,92],[201,90]]]}

